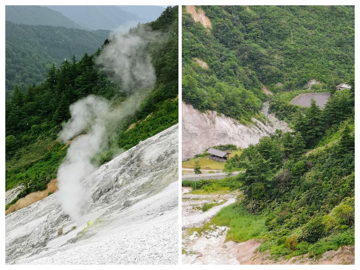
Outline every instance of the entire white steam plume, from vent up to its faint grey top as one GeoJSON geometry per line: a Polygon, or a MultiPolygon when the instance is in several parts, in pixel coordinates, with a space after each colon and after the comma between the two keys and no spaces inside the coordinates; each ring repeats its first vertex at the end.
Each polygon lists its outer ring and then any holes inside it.
{"type": "Polygon", "coordinates": [[[120,106],[113,108],[109,102],[97,96],[87,96],[70,106],[71,119],[59,133],[60,141],[75,136],[67,156],[58,170],[57,199],[63,211],[78,223],[82,220],[82,205],[89,198],[85,187],[93,183],[82,183],[96,170],[91,158],[107,147],[108,140],[116,138],[114,130],[124,117],[133,114],[146,96],[144,87],[156,80],[154,67],[145,46],[155,37],[141,28],[136,33],[115,36],[96,59],[96,64],[108,76],[121,83],[122,90],[131,93],[120,106]]]}

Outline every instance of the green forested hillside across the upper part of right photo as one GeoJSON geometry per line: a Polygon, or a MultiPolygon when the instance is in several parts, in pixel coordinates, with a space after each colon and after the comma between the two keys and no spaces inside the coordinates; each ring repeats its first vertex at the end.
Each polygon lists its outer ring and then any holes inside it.
{"type": "Polygon", "coordinates": [[[212,28],[183,8],[183,100],[201,111],[249,120],[265,100],[262,85],[276,93],[315,79],[333,91],[351,79],[354,6],[201,8],[212,28]]]}

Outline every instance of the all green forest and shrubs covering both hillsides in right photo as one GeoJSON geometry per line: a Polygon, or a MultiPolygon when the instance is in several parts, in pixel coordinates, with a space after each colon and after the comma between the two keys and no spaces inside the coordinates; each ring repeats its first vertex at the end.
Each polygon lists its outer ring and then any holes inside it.
{"type": "Polygon", "coordinates": [[[243,174],[197,182],[207,192],[243,190],[244,196],[211,222],[230,227],[227,240],[262,239],[259,251],[269,250],[274,259],[320,256],[354,244],[354,6],[202,9],[212,28],[195,23],[183,9],[184,101],[246,119],[257,111],[242,113],[234,97],[251,92],[255,103],[271,99],[270,111],[293,129],[276,130],[226,161],[224,171],[243,174]],[[193,57],[209,67],[200,67],[193,57]],[[226,76],[224,70],[235,72],[226,76]],[[252,81],[236,73],[244,70],[252,81]],[[331,93],[324,109],[315,100],[310,107],[290,102],[309,92],[304,86],[312,79],[321,84],[311,92],[331,93]],[[342,82],[352,88],[336,91],[342,82]],[[275,94],[265,97],[257,91],[261,84],[275,94]]]}

